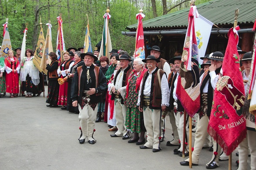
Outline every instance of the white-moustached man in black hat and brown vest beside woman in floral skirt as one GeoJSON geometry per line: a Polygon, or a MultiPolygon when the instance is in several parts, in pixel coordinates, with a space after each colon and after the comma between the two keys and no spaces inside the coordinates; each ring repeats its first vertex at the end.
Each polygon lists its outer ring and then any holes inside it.
{"type": "Polygon", "coordinates": [[[160,60],[155,56],[148,56],[142,62],[147,63],[148,72],[145,72],[141,81],[137,105],[143,111],[147,142],[140,149],[153,148],[153,152],[158,152],[161,150],[162,111],[169,106],[170,92],[166,73],[156,66],[160,60]]]}

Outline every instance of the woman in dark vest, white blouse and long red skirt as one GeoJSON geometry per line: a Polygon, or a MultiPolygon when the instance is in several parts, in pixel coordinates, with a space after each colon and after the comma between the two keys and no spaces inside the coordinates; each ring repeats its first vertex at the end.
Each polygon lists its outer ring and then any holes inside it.
{"type": "MultiPolygon", "coordinates": [[[[69,52],[64,52],[63,57],[64,57],[64,61],[61,62],[57,70],[57,73],[59,76],[61,76],[61,78],[65,78],[68,75],[72,65],[74,64],[74,61],[70,59],[69,52]]],[[[63,106],[61,108],[62,110],[67,109],[67,87],[68,87],[68,82],[64,82],[63,84],[60,85],[58,105],[63,106]]]]}

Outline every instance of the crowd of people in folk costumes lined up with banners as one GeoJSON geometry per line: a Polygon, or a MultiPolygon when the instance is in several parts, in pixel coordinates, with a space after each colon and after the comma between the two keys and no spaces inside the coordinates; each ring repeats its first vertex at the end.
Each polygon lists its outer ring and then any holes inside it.
{"type": "MultiPolygon", "coordinates": [[[[18,50],[18,49],[17,49],[18,50]]],[[[237,48],[245,89],[252,61],[251,52],[237,48]],[[245,54],[244,54],[245,53],[245,54]],[[244,54],[241,58],[241,54],[244,54]]],[[[58,63],[57,55],[49,53],[51,62],[47,64],[48,94],[47,107],[62,106],[62,110],[79,114],[81,135],[79,143],[95,144],[93,137],[95,122],[108,123],[108,131],[115,132],[111,137],[122,137],[128,143],[141,145],[140,149],[152,149],[158,152],[165,138],[165,116],[169,115],[173,140],[166,145],[176,147],[173,154],[189,156],[189,116],[184,121],[184,108],[176,96],[182,53],[177,51],[172,59],[161,57],[163,51],[158,46],[148,49],[146,59],[134,59],[128,52],[113,49],[110,61],[108,57],[99,57],[99,49],[83,52],[83,48],[69,48],[63,53],[64,61],[58,63]],[[185,143],[183,130],[185,128],[185,143]],[[146,134],[146,136],[145,136],[146,134]],[[185,145],[185,147],[183,147],[185,145]],[[185,148],[185,150],[183,150],[185,148]]],[[[26,57],[19,61],[12,50],[8,57],[0,60],[0,93],[10,93],[10,98],[19,93],[19,76],[22,94],[25,97],[40,95],[42,92],[41,73],[33,64],[33,52],[26,50],[26,57]],[[6,85],[6,86],[5,86],[6,85]]],[[[199,164],[199,155],[203,147],[209,147],[212,158],[206,163],[206,169],[219,167],[219,160],[228,156],[221,152],[219,144],[208,132],[213,92],[222,69],[224,55],[216,51],[201,58],[200,72],[201,108],[195,116],[195,144],[192,152],[192,165],[199,164]]],[[[199,63],[192,59],[195,65],[199,63]]],[[[239,170],[247,169],[247,158],[255,160],[255,124],[246,119],[247,136],[239,144],[239,170]]],[[[254,118],[255,120],[255,118],[254,118]]],[[[180,162],[189,165],[189,158],[180,162]]],[[[256,169],[251,161],[251,169],[256,169]]]]}

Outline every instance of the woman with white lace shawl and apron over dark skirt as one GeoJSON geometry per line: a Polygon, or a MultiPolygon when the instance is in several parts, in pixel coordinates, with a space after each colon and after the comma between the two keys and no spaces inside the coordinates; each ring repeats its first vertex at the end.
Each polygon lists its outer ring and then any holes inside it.
{"type": "Polygon", "coordinates": [[[24,59],[21,61],[20,66],[20,81],[23,83],[22,91],[26,91],[27,97],[32,97],[32,93],[35,95],[39,93],[38,84],[40,82],[39,70],[33,63],[34,53],[31,49],[27,49],[24,59]]]}

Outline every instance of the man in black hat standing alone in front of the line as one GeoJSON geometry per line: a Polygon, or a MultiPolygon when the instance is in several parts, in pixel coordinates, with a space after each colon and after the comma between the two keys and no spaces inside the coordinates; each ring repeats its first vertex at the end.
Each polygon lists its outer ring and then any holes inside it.
{"type": "Polygon", "coordinates": [[[79,120],[82,135],[79,143],[83,144],[88,139],[89,144],[95,144],[93,138],[96,114],[98,111],[98,102],[101,101],[101,95],[107,87],[107,80],[97,66],[92,63],[97,57],[92,52],[82,53],[81,59],[84,59],[84,65],[77,67],[71,85],[71,99],[73,107],[78,104],[79,120]]]}

